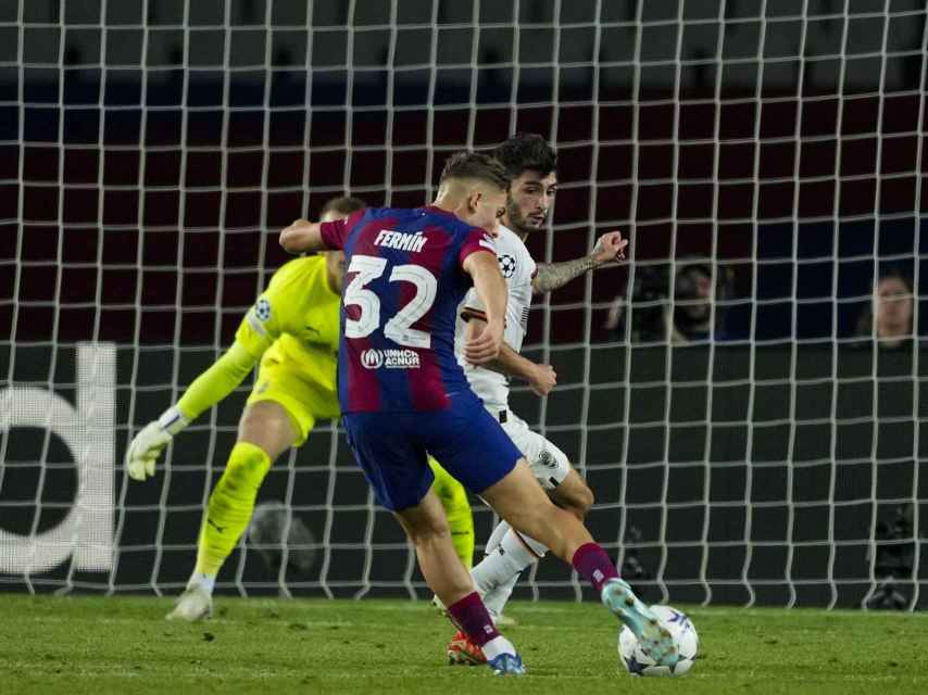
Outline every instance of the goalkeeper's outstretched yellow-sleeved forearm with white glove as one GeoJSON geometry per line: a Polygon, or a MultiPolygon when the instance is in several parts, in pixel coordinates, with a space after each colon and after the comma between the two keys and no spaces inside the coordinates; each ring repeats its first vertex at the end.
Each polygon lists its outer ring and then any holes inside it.
{"type": "Polygon", "coordinates": [[[133,480],[154,476],[154,464],[175,434],[205,410],[225,399],[254,368],[258,359],[236,341],[203,374],[193,380],[183,397],[135,435],[126,450],[126,470],[133,480]]]}

